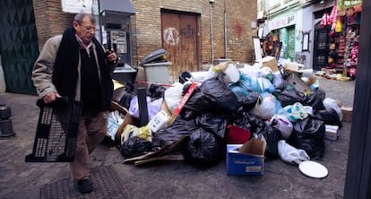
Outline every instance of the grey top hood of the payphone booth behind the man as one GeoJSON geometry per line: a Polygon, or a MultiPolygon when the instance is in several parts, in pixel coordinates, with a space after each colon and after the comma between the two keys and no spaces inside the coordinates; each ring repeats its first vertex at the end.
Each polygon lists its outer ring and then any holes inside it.
{"type": "Polygon", "coordinates": [[[135,13],[131,0],[100,0],[100,13],[113,11],[119,13],[127,13],[132,15],[135,13]]]}

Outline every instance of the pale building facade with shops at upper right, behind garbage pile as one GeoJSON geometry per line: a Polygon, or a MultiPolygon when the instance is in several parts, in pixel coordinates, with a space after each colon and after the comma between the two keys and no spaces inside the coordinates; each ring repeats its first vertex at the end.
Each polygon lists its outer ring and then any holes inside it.
{"type": "Polygon", "coordinates": [[[360,4],[361,0],[259,0],[262,39],[268,34],[279,38],[280,61],[354,78],[358,52],[351,50],[358,49],[360,4]]]}

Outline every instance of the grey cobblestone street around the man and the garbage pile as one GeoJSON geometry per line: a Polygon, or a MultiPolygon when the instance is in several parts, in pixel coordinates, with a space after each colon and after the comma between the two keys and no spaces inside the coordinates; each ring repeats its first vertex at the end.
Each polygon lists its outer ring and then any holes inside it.
{"type": "MultiPolygon", "coordinates": [[[[326,97],[353,106],[355,82],[317,77],[326,97]]],[[[0,104],[12,108],[15,136],[0,140],[0,198],[39,198],[40,186],[69,177],[67,163],[26,163],[38,123],[37,96],[0,93],[0,104]]],[[[92,153],[91,167],[112,166],[124,182],[128,198],[342,198],[351,123],[343,122],[336,141],[326,140],[324,160],[328,177],[300,173],[298,165],[267,160],[263,176],[228,176],[225,161],[199,169],[183,161],[148,165],[123,164],[120,151],[101,144],[92,153]]],[[[98,192],[98,191],[96,191],[98,192]]],[[[99,195],[99,193],[96,193],[99,195]]],[[[112,196],[114,197],[114,196],[112,196]]],[[[89,197],[87,197],[89,198],[89,197]]]]}

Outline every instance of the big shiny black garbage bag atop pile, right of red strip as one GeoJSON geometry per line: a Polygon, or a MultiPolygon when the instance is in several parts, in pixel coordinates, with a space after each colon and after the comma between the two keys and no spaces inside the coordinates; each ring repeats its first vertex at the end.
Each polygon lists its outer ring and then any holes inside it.
{"type": "Polygon", "coordinates": [[[185,108],[195,112],[236,113],[239,108],[237,96],[229,90],[224,82],[223,74],[205,80],[198,87],[191,98],[187,100],[185,108]]]}

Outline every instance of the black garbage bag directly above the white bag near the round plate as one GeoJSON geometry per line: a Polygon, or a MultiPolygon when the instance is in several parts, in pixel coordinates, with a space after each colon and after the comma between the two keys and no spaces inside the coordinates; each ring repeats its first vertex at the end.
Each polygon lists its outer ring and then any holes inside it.
{"type": "Polygon", "coordinates": [[[306,117],[293,124],[289,143],[298,149],[305,150],[312,160],[324,158],[324,121],[306,117]]]}

